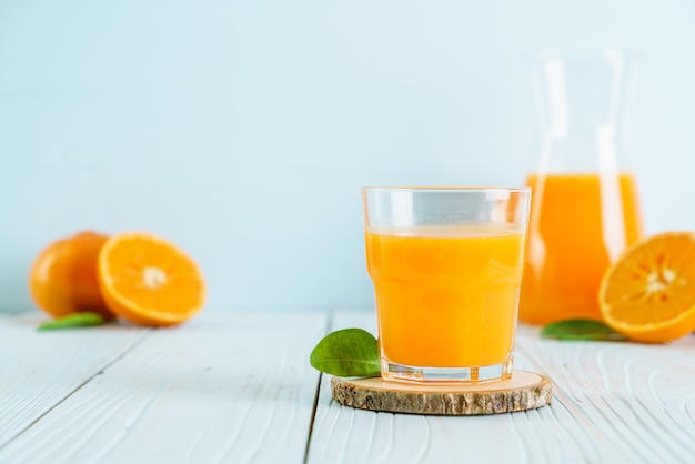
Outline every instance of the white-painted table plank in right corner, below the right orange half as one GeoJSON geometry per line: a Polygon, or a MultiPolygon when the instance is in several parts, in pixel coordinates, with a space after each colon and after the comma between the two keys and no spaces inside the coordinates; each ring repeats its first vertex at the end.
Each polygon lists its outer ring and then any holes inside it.
{"type": "Polygon", "coordinates": [[[518,350],[555,384],[557,426],[602,457],[693,461],[695,335],[655,345],[558,342],[537,332],[523,327],[518,350]]]}

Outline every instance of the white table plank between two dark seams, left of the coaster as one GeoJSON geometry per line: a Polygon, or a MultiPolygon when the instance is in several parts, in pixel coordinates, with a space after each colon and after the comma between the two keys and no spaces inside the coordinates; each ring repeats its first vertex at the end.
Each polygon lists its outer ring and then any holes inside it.
{"type": "Polygon", "coordinates": [[[326,314],[203,313],[148,337],[0,462],[301,463],[326,314]]]}

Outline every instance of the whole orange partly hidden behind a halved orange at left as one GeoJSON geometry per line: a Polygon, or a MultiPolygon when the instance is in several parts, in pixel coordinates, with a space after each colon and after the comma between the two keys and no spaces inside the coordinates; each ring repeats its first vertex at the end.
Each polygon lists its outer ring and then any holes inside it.
{"type": "Polygon", "coordinates": [[[107,239],[100,233],[81,232],[44,249],[29,273],[34,303],[56,317],[82,311],[113,317],[101,297],[97,276],[99,251],[107,239]]]}

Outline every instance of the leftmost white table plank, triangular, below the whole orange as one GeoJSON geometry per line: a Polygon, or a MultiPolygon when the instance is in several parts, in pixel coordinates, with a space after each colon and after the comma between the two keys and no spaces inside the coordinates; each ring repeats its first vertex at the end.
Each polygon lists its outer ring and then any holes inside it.
{"type": "Polygon", "coordinates": [[[147,332],[121,325],[38,332],[46,320],[38,312],[0,316],[0,448],[147,332]]]}

